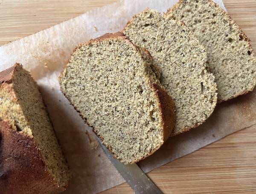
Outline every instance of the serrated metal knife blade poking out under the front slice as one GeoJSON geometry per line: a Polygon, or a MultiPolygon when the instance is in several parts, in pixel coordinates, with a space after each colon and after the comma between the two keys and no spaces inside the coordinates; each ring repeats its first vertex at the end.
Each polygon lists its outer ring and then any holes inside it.
{"type": "Polygon", "coordinates": [[[125,165],[122,162],[113,158],[113,155],[102,144],[102,141],[97,137],[103,151],[107,154],[112,164],[116,167],[122,177],[130,185],[136,194],[163,194],[159,188],[152,182],[147,175],[140,169],[137,164],[125,165]]]}

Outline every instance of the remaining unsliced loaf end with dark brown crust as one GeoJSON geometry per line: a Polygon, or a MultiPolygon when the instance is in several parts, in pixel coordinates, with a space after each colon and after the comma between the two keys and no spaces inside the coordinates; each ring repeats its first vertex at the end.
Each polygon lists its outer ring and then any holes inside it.
{"type": "Polygon", "coordinates": [[[20,64],[0,72],[0,193],[64,191],[70,170],[38,86],[20,64]]]}

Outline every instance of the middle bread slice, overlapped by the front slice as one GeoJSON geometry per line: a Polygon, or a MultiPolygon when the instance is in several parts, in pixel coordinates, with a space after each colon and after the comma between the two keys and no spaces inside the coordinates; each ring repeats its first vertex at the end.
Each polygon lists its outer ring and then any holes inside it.
{"type": "Polygon", "coordinates": [[[207,54],[192,32],[156,10],[145,9],[135,15],[123,33],[145,47],[160,69],[160,83],[172,96],[176,126],[172,136],[203,123],[216,105],[214,76],[207,72],[207,54]]]}

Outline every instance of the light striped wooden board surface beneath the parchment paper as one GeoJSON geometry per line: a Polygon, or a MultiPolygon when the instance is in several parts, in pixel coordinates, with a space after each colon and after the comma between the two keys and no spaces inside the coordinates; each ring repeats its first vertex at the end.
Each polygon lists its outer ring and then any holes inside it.
{"type": "MultiPolygon", "coordinates": [[[[115,1],[0,0],[0,45],[115,1]]],[[[223,1],[256,49],[256,0],[223,1]]],[[[169,162],[148,176],[166,194],[256,194],[256,125],[169,162]]],[[[101,194],[132,193],[124,183],[101,194]]]]}

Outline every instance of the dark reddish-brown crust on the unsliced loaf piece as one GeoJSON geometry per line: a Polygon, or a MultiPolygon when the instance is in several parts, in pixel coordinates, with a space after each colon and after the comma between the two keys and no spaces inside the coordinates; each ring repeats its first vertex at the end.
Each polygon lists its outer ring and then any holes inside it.
{"type": "Polygon", "coordinates": [[[0,193],[61,192],[44,165],[34,139],[0,121],[0,193]]]}

